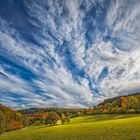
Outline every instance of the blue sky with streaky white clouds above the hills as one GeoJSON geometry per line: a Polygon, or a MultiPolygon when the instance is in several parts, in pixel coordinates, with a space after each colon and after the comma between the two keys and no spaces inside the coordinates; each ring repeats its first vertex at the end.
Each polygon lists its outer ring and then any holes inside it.
{"type": "Polygon", "coordinates": [[[140,0],[0,0],[0,103],[92,107],[140,92],[140,0]]]}

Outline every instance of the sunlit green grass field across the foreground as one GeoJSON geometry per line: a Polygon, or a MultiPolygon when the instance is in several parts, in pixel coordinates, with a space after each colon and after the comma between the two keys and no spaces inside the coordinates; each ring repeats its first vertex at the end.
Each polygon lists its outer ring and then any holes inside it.
{"type": "Polygon", "coordinates": [[[140,114],[82,116],[70,124],[3,133],[0,140],[140,140],[140,114]]]}

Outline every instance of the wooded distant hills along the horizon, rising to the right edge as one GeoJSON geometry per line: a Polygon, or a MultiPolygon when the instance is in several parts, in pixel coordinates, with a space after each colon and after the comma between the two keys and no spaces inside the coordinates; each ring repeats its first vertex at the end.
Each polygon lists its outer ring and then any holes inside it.
{"type": "Polygon", "coordinates": [[[31,108],[19,110],[22,114],[36,114],[39,112],[54,111],[59,115],[69,112],[71,117],[79,115],[101,114],[101,113],[139,113],[140,112],[140,93],[117,96],[114,98],[105,99],[98,104],[94,109],[72,109],[72,108],[31,108]]]}

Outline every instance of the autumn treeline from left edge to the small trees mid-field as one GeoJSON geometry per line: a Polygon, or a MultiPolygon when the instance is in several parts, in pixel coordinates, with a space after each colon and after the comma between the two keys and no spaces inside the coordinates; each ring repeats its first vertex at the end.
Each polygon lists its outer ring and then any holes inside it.
{"type": "Polygon", "coordinates": [[[0,133],[21,129],[30,125],[56,125],[70,122],[70,113],[46,112],[38,109],[37,112],[23,114],[0,104],[0,133]]]}

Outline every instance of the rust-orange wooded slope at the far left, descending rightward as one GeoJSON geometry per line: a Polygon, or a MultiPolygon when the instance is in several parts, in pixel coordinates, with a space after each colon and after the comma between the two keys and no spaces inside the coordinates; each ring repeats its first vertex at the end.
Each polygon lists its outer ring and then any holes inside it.
{"type": "Polygon", "coordinates": [[[0,133],[22,127],[21,113],[0,104],[0,133]]]}

